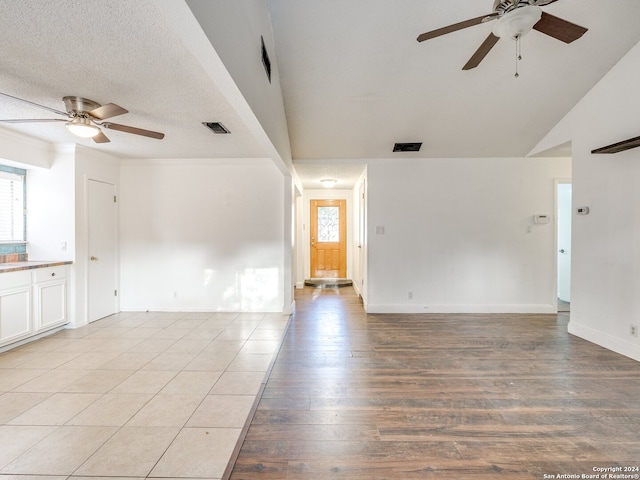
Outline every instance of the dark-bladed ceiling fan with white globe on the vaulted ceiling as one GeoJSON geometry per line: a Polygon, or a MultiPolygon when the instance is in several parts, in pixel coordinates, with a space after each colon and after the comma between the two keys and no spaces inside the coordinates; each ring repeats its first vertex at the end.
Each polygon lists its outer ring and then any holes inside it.
{"type": "Polygon", "coordinates": [[[430,40],[447,33],[497,20],[493,31],[471,56],[465,66],[462,67],[463,70],[470,70],[477,67],[501,37],[513,38],[519,42],[520,38],[529,33],[531,29],[542,32],[562,42],[571,43],[584,35],[588,29],[543,12],[540,8],[557,1],[558,0],[495,0],[492,13],[423,33],[418,36],[418,42],[424,42],[425,40],[430,40]]]}

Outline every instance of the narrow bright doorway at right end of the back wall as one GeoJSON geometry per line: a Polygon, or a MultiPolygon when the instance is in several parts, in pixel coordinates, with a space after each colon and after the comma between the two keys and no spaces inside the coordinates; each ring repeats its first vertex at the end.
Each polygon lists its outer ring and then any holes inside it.
{"type": "Polygon", "coordinates": [[[558,180],[556,185],[558,311],[571,306],[571,182],[558,180]]]}

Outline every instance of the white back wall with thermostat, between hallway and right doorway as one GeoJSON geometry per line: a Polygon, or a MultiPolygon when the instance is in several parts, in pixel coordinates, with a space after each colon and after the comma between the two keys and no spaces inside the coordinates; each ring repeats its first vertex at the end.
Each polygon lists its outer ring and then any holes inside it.
{"type": "Polygon", "coordinates": [[[570,176],[566,158],[369,161],[367,311],[554,312],[555,229],[533,215],[570,176]]]}

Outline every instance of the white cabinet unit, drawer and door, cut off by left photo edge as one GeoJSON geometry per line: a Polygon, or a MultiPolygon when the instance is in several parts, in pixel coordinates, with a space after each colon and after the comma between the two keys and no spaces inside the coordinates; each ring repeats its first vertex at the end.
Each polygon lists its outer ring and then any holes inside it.
{"type": "Polygon", "coordinates": [[[0,275],[0,346],[30,336],[31,273],[28,271],[0,275]]]}

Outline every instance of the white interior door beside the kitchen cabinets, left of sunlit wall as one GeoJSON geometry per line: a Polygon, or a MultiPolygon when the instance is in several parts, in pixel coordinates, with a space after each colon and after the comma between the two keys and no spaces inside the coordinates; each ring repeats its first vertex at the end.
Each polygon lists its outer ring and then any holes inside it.
{"type": "Polygon", "coordinates": [[[115,186],[88,180],[88,316],[93,322],[116,313],[115,186]]]}

